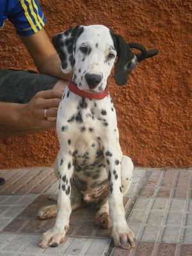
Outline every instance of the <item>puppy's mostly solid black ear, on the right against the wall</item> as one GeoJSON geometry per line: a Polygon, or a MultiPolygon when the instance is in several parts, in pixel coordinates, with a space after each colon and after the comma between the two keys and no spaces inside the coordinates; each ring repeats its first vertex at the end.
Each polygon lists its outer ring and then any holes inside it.
{"type": "Polygon", "coordinates": [[[115,35],[112,31],[111,36],[118,56],[115,65],[115,81],[118,85],[124,85],[138,60],[122,36],[115,35]]]}

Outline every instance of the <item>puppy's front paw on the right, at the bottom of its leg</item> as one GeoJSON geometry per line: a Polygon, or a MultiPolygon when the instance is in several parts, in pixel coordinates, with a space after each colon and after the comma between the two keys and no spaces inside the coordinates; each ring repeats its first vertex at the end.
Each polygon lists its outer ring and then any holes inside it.
{"type": "Polygon", "coordinates": [[[124,228],[113,228],[112,236],[115,246],[121,246],[124,249],[130,249],[136,246],[136,239],[128,226],[124,228]]]}

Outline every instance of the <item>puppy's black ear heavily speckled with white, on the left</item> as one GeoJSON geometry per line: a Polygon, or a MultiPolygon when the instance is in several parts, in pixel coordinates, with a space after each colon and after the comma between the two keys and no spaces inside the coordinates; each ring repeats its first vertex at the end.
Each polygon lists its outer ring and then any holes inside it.
{"type": "Polygon", "coordinates": [[[69,73],[75,64],[74,51],[77,38],[83,33],[83,26],[75,26],[62,33],[52,36],[52,44],[61,59],[61,69],[64,73],[69,73]]]}

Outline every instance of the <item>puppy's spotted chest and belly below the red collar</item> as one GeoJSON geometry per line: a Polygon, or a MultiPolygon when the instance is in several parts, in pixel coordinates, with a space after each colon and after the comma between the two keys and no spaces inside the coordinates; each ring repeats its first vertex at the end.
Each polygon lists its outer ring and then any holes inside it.
{"type": "Polygon", "coordinates": [[[72,154],[73,179],[87,202],[97,202],[109,191],[102,139],[111,125],[116,128],[109,95],[104,100],[90,100],[65,91],[58,111],[58,138],[61,150],[72,154]]]}

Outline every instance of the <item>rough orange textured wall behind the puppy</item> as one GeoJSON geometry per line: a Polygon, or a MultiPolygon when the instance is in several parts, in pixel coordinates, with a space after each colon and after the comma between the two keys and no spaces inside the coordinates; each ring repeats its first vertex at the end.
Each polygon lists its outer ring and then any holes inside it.
{"type": "MultiPolygon", "coordinates": [[[[120,143],[134,164],[192,166],[191,2],[42,0],[40,5],[49,36],[76,24],[104,24],[127,42],[159,49],[155,58],[138,64],[126,86],[110,78],[120,143]]],[[[0,31],[0,45],[0,68],[35,69],[9,22],[0,31]]],[[[9,138],[0,142],[0,168],[50,165],[57,152],[55,131],[9,138]]]]}

